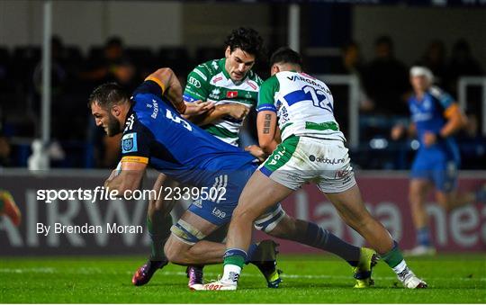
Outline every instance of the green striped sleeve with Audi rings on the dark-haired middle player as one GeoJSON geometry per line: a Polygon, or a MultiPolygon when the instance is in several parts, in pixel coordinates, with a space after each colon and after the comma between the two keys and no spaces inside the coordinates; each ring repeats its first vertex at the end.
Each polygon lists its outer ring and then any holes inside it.
{"type": "Polygon", "coordinates": [[[184,89],[184,102],[201,100],[205,102],[210,94],[210,73],[204,65],[199,65],[187,76],[184,89]]]}

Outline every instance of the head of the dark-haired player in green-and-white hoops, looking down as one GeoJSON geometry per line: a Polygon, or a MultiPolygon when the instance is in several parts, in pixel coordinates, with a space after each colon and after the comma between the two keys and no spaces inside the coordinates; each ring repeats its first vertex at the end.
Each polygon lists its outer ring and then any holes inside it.
{"type": "Polygon", "coordinates": [[[247,76],[248,71],[260,57],[263,39],[251,28],[238,28],[231,31],[224,43],[226,72],[232,80],[238,82],[247,76]]]}

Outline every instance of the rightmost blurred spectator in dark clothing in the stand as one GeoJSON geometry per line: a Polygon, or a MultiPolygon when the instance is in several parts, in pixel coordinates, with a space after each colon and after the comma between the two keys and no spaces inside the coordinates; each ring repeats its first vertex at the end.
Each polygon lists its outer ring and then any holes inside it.
{"type": "Polygon", "coordinates": [[[460,76],[480,76],[482,74],[482,67],[473,58],[469,43],[466,40],[457,40],[446,68],[446,86],[449,91],[457,92],[457,80],[460,76]]]}

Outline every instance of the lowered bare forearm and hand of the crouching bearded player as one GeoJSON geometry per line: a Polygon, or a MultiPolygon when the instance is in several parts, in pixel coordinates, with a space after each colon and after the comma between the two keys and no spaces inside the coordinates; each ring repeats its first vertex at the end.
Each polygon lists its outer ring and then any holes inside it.
{"type": "Polygon", "coordinates": [[[126,191],[137,190],[147,169],[147,163],[139,162],[137,158],[133,160],[135,161],[130,161],[128,157],[121,158],[120,173],[111,175],[104,182],[104,187],[110,192],[116,191],[119,197],[122,197],[126,191]]]}

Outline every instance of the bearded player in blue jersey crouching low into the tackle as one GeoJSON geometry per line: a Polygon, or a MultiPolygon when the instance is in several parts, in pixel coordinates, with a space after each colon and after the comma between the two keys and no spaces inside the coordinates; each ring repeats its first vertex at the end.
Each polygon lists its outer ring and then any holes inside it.
{"type": "MultiPolygon", "coordinates": [[[[225,245],[202,238],[229,222],[239,194],[257,169],[257,158],[182,118],[180,114],[191,109],[186,109],[182,88],[169,68],[148,76],[131,98],[119,85],[101,85],[91,94],[89,106],[96,125],[109,136],[123,133],[121,171],[115,171],[105,183],[111,192],[123,194],[139,188],[148,166],[182,184],[221,190],[224,196],[217,200],[196,199],[171,228],[165,245],[167,259],[178,265],[221,263],[225,245]]],[[[340,256],[353,267],[356,287],[373,283],[373,250],[349,245],[314,223],[295,220],[280,204],[264,211],[255,227],[340,256]]],[[[275,247],[270,249],[275,251],[275,247]]],[[[258,262],[272,261],[273,273],[265,275],[269,286],[277,287],[281,279],[275,269],[275,252],[252,244],[247,262],[254,262],[255,256],[259,256],[258,262]]]]}

